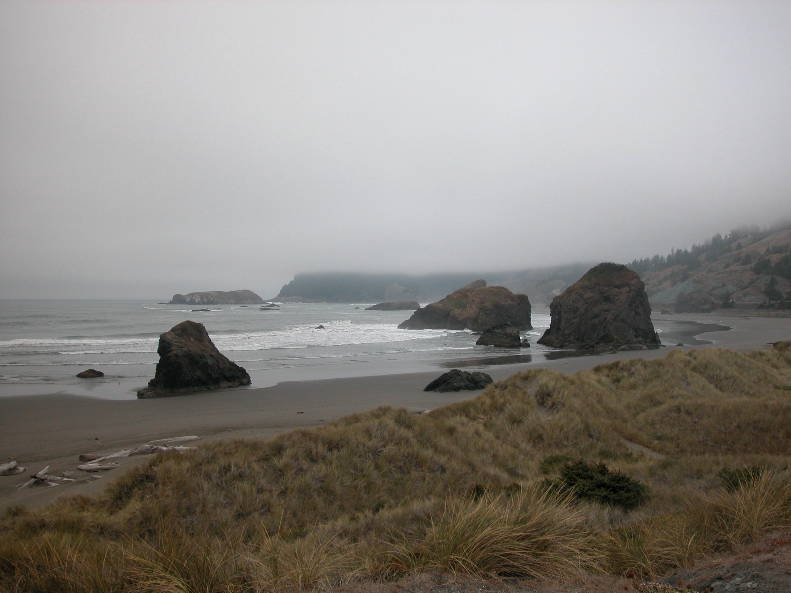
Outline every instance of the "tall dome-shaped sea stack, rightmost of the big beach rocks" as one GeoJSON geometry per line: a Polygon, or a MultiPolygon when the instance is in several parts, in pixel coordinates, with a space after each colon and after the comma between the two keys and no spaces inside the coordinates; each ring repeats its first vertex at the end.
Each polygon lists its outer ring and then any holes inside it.
{"type": "Polygon", "coordinates": [[[642,349],[660,346],[638,274],[619,263],[592,267],[550,304],[538,343],[553,348],[642,349]]]}

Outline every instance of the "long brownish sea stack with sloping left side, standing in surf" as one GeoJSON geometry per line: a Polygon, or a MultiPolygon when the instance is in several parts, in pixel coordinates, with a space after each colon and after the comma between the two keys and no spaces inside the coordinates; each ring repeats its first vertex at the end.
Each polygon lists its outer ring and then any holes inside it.
{"type": "Polygon", "coordinates": [[[528,296],[514,294],[504,286],[486,286],[485,280],[476,280],[418,309],[399,328],[483,331],[503,323],[510,323],[517,330],[532,328],[528,296]]]}

